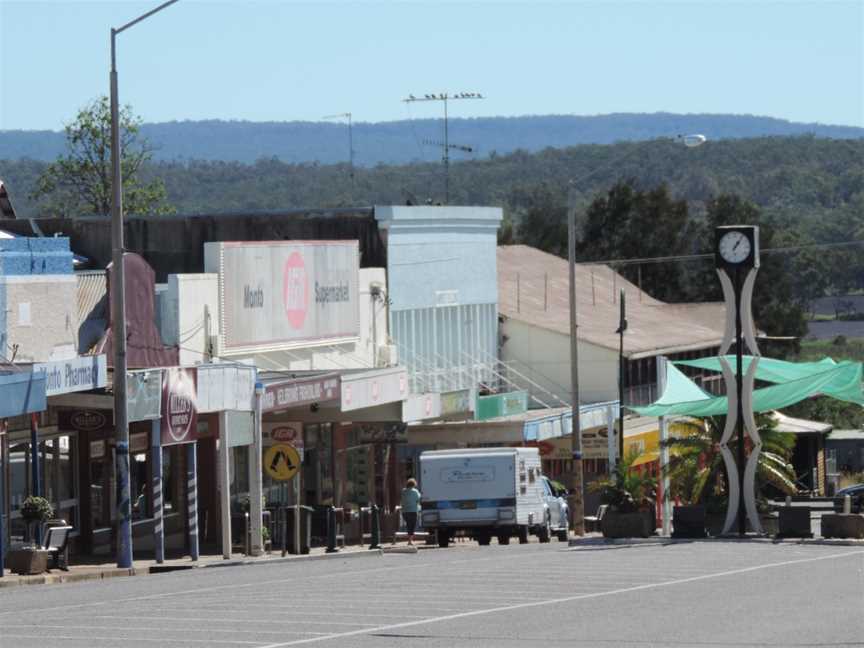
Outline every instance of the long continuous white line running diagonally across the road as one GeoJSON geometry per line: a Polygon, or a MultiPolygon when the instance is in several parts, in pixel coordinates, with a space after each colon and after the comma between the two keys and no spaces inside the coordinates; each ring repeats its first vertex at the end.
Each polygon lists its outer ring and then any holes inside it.
{"type": "Polygon", "coordinates": [[[563,598],[547,599],[545,601],[531,601],[530,603],[519,603],[517,605],[506,605],[497,608],[489,608],[486,610],[472,610],[470,612],[461,612],[459,614],[448,614],[446,616],[432,617],[420,621],[406,621],[404,623],[394,623],[391,625],[379,626],[378,628],[365,628],[363,630],[352,630],[350,632],[334,633],[330,636],[311,637],[309,639],[298,639],[295,641],[286,641],[283,643],[268,644],[260,648],[286,648],[287,646],[299,646],[301,644],[319,643],[321,641],[330,641],[332,639],[344,639],[345,637],[356,637],[358,635],[369,635],[378,632],[386,632],[388,630],[399,630],[402,628],[411,628],[429,623],[440,623],[442,621],[453,621],[455,619],[465,619],[469,617],[480,616],[484,614],[496,614],[498,612],[512,612],[513,610],[524,610],[527,608],[540,607],[544,605],[556,605],[558,603],[570,603],[573,601],[586,600],[591,598],[600,598],[603,596],[612,596],[615,594],[626,594],[629,592],[638,592],[647,589],[656,589],[660,587],[668,587],[670,585],[682,585],[684,583],[693,583],[696,581],[708,580],[710,578],[722,578],[723,576],[733,576],[736,574],[745,574],[748,572],[759,571],[762,569],[770,569],[773,567],[785,567],[788,565],[799,565],[801,563],[816,562],[819,560],[831,560],[833,558],[845,558],[847,556],[864,555],[864,551],[846,551],[840,554],[831,554],[828,556],[817,556],[816,558],[803,558],[800,560],[786,560],[778,563],[768,563],[766,565],[757,565],[755,567],[744,567],[741,569],[733,569],[714,574],[703,574],[702,576],[691,576],[690,578],[680,578],[676,580],[663,581],[660,583],[637,585],[635,587],[624,587],[621,589],[596,592],[592,594],[580,594],[577,596],[566,596],[563,598]]]}

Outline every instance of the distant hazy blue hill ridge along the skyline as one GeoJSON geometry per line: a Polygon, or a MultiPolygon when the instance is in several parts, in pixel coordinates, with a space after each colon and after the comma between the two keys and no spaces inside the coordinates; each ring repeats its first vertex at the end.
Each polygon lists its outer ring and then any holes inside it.
{"type": "MultiPolygon", "coordinates": [[[[449,130],[451,143],[472,149],[471,153],[452,151],[455,160],[484,159],[516,150],[650,140],[678,133],[702,133],[712,140],[802,134],[864,138],[864,128],[852,126],[750,115],[671,113],[452,118],[449,130]]],[[[155,158],[162,161],[251,163],[275,157],[288,163],[333,164],[348,158],[347,126],[334,122],[182,121],[144,124],[141,134],[155,148],[155,158]]],[[[353,136],[359,166],[433,161],[441,158],[441,149],[429,142],[442,139],[443,120],[357,122],[353,136]]],[[[50,161],[63,148],[61,132],[0,130],[0,159],[50,161]]]]}

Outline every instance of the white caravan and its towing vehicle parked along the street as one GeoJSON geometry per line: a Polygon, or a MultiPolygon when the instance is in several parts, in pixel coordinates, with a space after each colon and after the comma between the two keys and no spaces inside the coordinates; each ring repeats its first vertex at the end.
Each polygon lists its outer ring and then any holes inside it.
{"type": "Polygon", "coordinates": [[[446,547],[461,531],[488,545],[535,534],[567,540],[568,511],[543,476],[537,448],[430,450],[420,455],[422,523],[446,547]]]}

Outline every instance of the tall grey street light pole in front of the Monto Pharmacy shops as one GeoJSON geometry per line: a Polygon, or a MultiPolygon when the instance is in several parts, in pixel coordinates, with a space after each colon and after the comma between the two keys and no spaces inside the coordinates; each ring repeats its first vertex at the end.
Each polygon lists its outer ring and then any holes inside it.
{"type": "Polygon", "coordinates": [[[123,178],[120,171],[120,115],[117,98],[117,34],[177,0],[164,2],[117,29],[111,28],[111,320],[114,333],[114,424],[117,456],[117,566],[132,567],[132,500],[129,492],[129,417],[126,411],[126,295],[123,268],[123,178]]]}

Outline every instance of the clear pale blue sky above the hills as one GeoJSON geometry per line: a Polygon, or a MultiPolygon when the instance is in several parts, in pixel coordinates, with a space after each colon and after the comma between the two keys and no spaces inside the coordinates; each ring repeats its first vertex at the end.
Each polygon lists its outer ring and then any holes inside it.
{"type": "MultiPolygon", "coordinates": [[[[0,0],[0,129],[108,93],[110,28],[159,0],[0,0]]],[[[864,0],[180,0],[117,37],[146,122],[734,113],[864,127],[864,0]]]]}

